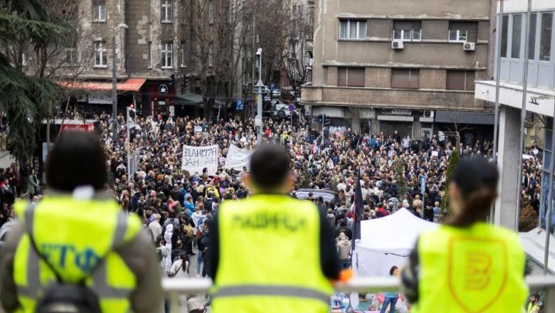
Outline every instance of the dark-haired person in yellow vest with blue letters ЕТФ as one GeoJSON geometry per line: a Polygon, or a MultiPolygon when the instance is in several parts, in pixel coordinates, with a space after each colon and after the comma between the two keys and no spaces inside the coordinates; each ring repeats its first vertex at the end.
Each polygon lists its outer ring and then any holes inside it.
{"type": "MultiPolygon", "coordinates": [[[[7,312],[35,312],[53,285],[80,285],[101,312],[159,312],[160,271],[137,216],[102,196],[105,151],[96,135],[62,132],[46,162],[48,193],[20,202],[0,258],[0,300],[7,312]]],[[[59,295],[53,295],[57,297],[59,295]]]]}

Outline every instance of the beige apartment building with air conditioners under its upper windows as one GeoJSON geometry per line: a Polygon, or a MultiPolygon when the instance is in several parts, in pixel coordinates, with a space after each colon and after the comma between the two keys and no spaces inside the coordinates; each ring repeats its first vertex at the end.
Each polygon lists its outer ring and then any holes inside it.
{"type": "Polygon", "coordinates": [[[475,80],[488,77],[490,37],[489,0],[315,0],[302,102],[374,132],[421,137],[472,124],[468,142],[490,137],[492,119],[474,97],[475,80]]]}

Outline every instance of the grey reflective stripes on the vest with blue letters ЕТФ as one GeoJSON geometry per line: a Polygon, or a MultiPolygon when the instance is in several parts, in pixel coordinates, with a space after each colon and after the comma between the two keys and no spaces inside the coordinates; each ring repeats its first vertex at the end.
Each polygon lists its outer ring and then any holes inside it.
{"type": "MultiPolygon", "coordinates": [[[[34,213],[36,207],[29,205],[25,211],[26,230],[33,230],[34,213]]],[[[127,230],[127,215],[123,212],[117,215],[117,226],[112,241],[112,246],[117,246],[123,242],[127,230]]],[[[31,235],[31,234],[27,234],[31,235]]],[[[33,247],[29,244],[27,255],[27,285],[17,285],[18,295],[36,299],[41,289],[40,257],[33,247]]],[[[101,299],[127,298],[132,290],[127,288],[110,287],[107,284],[107,268],[105,260],[100,261],[95,271],[90,274],[93,279],[93,286],[89,286],[101,299]]]]}

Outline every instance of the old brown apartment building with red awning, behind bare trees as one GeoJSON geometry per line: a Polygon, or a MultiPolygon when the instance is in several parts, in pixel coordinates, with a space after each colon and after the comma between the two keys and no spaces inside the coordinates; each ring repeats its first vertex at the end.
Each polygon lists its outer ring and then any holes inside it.
{"type": "MultiPolygon", "coordinates": [[[[69,85],[84,90],[76,106],[85,112],[111,110],[115,38],[120,112],[133,103],[142,115],[198,115],[202,78],[216,67],[216,44],[206,34],[211,34],[208,27],[218,23],[216,6],[226,3],[81,0],[80,10],[85,13],[78,21],[80,36],[71,58],[86,63],[83,73],[69,85]],[[205,28],[200,35],[199,28],[205,28]],[[206,38],[201,42],[199,36],[206,38]]],[[[240,82],[242,70],[238,68],[239,83],[231,90],[234,97],[241,97],[245,89],[240,82]]]]}

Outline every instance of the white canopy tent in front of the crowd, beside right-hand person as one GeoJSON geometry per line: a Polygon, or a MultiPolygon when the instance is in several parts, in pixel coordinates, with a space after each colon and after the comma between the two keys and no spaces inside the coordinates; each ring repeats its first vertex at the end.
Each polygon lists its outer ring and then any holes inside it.
{"type": "Polygon", "coordinates": [[[405,208],[384,218],[361,221],[353,267],[359,276],[387,276],[393,265],[406,265],[421,232],[437,227],[405,208]]]}

